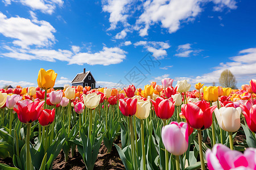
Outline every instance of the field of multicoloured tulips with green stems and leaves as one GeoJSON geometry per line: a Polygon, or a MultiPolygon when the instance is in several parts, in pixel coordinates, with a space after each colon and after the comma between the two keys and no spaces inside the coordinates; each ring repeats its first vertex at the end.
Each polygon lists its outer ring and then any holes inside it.
{"type": "Polygon", "coordinates": [[[52,169],[77,152],[91,170],[103,145],[129,170],[256,169],[255,79],[238,90],[171,78],[54,90],[56,77],[40,69],[38,87],[0,88],[0,169],[52,169]]]}

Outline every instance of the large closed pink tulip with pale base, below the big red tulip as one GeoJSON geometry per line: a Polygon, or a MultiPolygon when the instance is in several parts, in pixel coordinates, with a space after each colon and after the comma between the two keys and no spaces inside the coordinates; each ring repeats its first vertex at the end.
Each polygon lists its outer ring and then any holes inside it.
{"type": "Polygon", "coordinates": [[[188,124],[171,122],[162,129],[162,140],[166,150],[173,155],[182,155],[188,150],[188,124]]]}

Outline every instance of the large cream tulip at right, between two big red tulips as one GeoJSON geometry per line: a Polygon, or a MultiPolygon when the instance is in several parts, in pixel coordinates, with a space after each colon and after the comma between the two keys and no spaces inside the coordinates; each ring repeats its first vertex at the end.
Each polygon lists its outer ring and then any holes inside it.
{"type": "Polygon", "coordinates": [[[221,129],[234,132],[240,128],[240,107],[221,107],[220,109],[216,108],[214,113],[217,118],[218,125],[220,125],[221,129]]]}

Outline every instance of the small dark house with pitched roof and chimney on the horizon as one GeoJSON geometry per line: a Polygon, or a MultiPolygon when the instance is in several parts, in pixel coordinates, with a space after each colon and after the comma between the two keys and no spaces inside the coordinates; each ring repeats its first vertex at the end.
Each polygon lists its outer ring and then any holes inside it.
{"type": "Polygon", "coordinates": [[[75,78],[71,82],[72,86],[79,86],[82,87],[90,86],[91,88],[95,88],[96,80],[93,78],[92,73],[90,71],[78,73],[75,78]]]}

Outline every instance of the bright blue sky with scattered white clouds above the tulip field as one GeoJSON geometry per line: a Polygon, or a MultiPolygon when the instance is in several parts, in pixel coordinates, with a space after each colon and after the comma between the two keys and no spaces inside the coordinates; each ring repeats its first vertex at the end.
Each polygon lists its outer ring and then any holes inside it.
{"type": "Polygon", "coordinates": [[[256,76],[255,7],[253,0],[2,0],[0,87],[37,86],[40,68],[55,70],[59,87],[84,67],[97,87],[166,77],[211,85],[225,69],[241,87],[256,76]]]}

